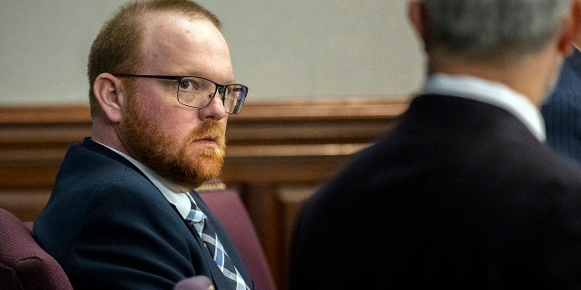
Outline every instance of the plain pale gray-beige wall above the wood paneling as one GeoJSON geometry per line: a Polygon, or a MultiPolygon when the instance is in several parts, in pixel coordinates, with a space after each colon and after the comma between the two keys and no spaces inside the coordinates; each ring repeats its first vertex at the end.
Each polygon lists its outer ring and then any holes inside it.
{"type": "MultiPolygon", "coordinates": [[[[86,59],[123,0],[2,0],[0,105],[85,103],[86,59]]],[[[222,20],[248,102],[416,92],[406,0],[200,0],[222,20]]]]}

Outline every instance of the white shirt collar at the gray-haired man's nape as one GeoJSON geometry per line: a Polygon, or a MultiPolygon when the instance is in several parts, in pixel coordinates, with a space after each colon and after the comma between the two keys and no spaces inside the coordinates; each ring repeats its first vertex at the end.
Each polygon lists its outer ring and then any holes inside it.
{"type": "Polygon", "coordinates": [[[453,95],[503,108],[525,123],[538,140],[546,140],[545,122],[538,108],[527,97],[500,82],[436,73],[428,77],[421,92],[453,95]]]}

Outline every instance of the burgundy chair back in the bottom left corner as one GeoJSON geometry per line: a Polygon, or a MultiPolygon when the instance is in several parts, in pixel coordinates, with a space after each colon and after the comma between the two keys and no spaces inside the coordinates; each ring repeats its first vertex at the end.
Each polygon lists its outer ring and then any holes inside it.
{"type": "Polygon", "coordinates": [[[0,289],[73,289],[63,268],[40,247],[29,227],[0,208],[0,289]]]}

